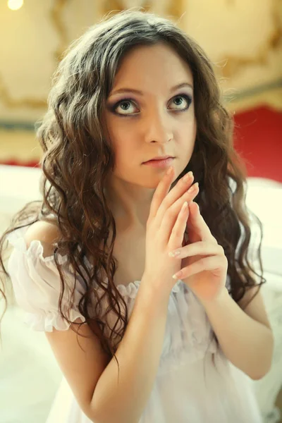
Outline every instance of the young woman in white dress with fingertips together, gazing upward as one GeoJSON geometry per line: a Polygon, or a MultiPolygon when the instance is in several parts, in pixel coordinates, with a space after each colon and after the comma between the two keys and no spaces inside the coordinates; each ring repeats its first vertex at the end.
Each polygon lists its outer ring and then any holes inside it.
{"type": "Polygon", "coordinates": [[[118,13],[67,51],[37,130],[43,201],[1,240],[63,372],[48,423],[261,421],[273,335],[232,132],[169,20],[118,13]]]}

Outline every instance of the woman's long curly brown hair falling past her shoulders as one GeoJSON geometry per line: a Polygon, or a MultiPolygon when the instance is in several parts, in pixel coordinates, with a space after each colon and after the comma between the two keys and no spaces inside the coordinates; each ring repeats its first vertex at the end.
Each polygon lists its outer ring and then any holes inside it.
{"type": "MultiPolygon", "coordinates": [[[[128,309],[114,284],[118,265],[113,255],[116,224],[106,203],[104,184],[114,171],[115,152],[103,137],[102,112],[125,54],[137,46],[158,43],[166,43],[188,63],[195,87],[195,148],[177,180],[192,171],[199,182],[200,193],[195,201],[212,235],[225,251],[231,283],[228,290],[233,300],[238,302],[246,290],[257,285],[255,275],[260,278],[259,286],[266,281],[262,277],[262,235],[255,250],[260,274],[252,267],[254,257],[249,257],[251,231],[250,212],[245,204],[245,165],[233,147],[233,116],[223,105],[211,61],[195,40],[171,20],[140,10],[106,16],[71,44],[54,74],[48,110],[37,126],[43,149],[40,161],[43,200],[26,204],[13,217],[0,240],[0,262],[9,276],[2,260],[8,233],[39,220],[54,221],[51,216],[55,216],[60,233],[54,261],[61,278],[58,304],[61,315],[71,323],[61,307],[66,281],[59,254],[68,257],[75,279],[80,275],[85,282],[78,309],[92,331],[91,323],[96,322],[99,333],[95,333],[104,351],[115,358],[118,345],[115,339],[123,338],[128,309]],[[91,259],[91,269],[85,264],[85,257],[91,259]],[[97,287],[102,288],[101,297],[97,287]],[[106,336],[99,307],[104,297],[109,301],[108,312],[112,310],[116,315],[110,336],[106,336]]],[[[255,219],[262,234],[262,223],[257,216],[255,219]]],[[[6,300],[4,283],[2,288],[6,300]]]]}

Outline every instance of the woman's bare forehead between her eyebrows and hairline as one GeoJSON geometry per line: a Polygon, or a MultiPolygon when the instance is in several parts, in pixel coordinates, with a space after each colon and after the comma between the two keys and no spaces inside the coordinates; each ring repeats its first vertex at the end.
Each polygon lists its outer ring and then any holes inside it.
{"type": "Polygon", "coordinates": [[[129,86],[142,91],[146,91],[146,87],[164,89],[180,82],[193,82],[188,63],[173,47],[154,44],[135,47],[125,54],[114,78],[113,90],[129,86]]]}

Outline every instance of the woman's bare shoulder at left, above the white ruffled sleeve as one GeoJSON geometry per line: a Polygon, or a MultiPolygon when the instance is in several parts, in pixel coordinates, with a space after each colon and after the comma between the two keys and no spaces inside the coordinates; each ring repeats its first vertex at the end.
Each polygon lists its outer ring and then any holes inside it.
{"type": "Polygon", "coordinates": [[[44,257],[54,252],[54,245],[60,238],[60,230],[56,223],[48,221],[37,221],[27,229],[24,239],[28,249],[32,240],[38,240],[44,249],[44,257]]]}

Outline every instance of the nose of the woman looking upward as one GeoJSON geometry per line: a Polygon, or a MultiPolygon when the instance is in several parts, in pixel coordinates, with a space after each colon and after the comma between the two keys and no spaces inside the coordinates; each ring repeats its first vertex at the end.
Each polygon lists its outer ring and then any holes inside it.
{"type": "Polygon", "coordinates": [[[173,130],[167,113],[160,110],[150,111],[142,120],[145,141],[166,143],[173,138],[173,130]]]}

